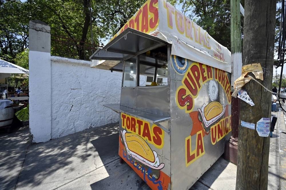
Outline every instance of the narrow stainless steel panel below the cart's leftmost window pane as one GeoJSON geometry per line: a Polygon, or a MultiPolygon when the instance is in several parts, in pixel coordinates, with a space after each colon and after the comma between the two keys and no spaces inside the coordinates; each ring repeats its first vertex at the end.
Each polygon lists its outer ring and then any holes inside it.
{"type": "Polygon", "coordinates": [[[136,87],[121,87],[120,105],[136,109],[136,87]]]}

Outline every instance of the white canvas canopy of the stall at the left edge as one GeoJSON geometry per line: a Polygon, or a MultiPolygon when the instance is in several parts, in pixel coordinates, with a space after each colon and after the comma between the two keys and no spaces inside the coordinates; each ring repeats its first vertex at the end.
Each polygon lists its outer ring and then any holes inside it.
{"type": "Polygon", "coordinates": [[[0,79],[7,78],[10,74],[29,74],[29,70],[0,59],[0,79]]]}

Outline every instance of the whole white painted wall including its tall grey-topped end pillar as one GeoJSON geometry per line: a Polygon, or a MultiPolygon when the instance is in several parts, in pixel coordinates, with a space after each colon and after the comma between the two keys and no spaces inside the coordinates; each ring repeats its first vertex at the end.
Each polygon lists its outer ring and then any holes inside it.
{"type": "Polygon", "coordinates": [[[119,103],[122,73],[90,67],[91,61],[53,57],[50,27],[29,23],[29,127],[45,142],[119,120],[103,104],[119,103]]]}

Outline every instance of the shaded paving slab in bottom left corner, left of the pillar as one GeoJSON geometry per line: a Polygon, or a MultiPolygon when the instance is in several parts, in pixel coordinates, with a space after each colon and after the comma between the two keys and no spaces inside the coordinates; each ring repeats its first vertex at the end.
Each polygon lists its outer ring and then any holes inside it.
{"type": "Polygon", "coordinates": [[[29,146],[29,127],[0,134],[0,189],[14,189],[29,146]]]}

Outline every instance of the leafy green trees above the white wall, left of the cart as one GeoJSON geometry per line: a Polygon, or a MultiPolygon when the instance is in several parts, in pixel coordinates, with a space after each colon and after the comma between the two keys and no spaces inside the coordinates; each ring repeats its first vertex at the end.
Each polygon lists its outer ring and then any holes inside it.
{"type": "Polygon", "coordinates": [[[0,57],[14,63],[28,46],[29,20],[51,27],[51,54],[89,59],[145,0],[0,0],[0,57]],[[90,16],[93,27],[91,44],[90,16]]]}

